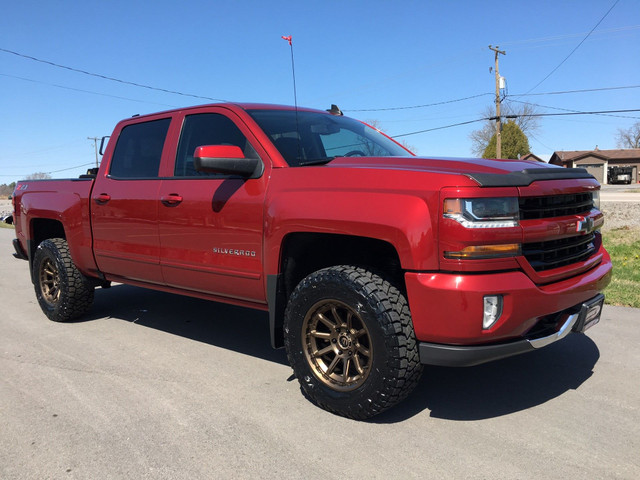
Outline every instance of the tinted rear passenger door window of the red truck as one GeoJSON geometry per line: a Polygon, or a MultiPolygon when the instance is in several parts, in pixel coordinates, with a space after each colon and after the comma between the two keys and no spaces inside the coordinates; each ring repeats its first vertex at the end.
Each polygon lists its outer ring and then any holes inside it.
{"type": "Polygon", "coordinates": [[[126,126],[116,143],[109,174],[116,178],[158,176],[170,118],[126,126]]]}

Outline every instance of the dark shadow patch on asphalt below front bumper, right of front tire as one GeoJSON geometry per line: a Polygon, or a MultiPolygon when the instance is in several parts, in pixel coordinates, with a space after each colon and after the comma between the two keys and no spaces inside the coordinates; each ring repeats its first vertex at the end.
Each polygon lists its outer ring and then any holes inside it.
{"type": "Polygon", "coordinates": [[[528,354],[466,368],[425,367],[422,379],[398,408],[371,421],[396,423],[429,410],[447,420],[483,420],[542,405],[577,389],[600,358],[586,335],[528,354]]]}

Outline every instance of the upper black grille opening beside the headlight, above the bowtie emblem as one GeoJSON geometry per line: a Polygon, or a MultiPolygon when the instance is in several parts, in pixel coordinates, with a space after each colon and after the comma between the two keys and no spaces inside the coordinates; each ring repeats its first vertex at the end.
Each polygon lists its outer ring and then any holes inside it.
{"type": "Polygon", "coordinates": [[[520,220],[584,214],[591,208],[593,208],[591,192],[548,197],[521,197],[520,220]]]}

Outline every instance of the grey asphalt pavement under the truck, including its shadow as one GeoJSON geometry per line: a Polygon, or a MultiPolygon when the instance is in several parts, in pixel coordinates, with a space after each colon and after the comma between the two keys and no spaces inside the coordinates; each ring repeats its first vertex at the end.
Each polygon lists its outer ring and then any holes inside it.
{"type": "Polygon", "coordinates": [[[128,286],[50,322],[0,229],[0,478],[640,478],[640,311],[429,367],[369,422],[309,403],[267,317],[128,286]]]}

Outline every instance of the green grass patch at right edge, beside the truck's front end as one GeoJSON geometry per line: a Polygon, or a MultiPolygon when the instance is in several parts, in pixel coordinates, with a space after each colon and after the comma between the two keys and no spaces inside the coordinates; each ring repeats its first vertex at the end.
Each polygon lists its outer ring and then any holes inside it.
{"type": "Polygon", "coordinates": [[[613,278],[604,292],[606,302],[640,308],[640,229],[609,230],[602,238],[613,261],[613,278]]]}

